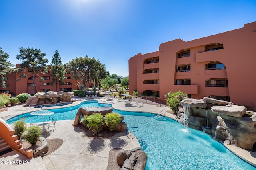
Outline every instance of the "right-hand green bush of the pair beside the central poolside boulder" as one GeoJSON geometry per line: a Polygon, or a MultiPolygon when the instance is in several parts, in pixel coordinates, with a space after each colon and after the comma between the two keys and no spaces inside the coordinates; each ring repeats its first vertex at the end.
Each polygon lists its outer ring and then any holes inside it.
{"type": "Polygon", "coordinates": [[[116,125],[118,125],[120,122],[120,114],[118,113],[108,113],[105,115],[106,126],[111,132],[116,130],[116,125]]]}

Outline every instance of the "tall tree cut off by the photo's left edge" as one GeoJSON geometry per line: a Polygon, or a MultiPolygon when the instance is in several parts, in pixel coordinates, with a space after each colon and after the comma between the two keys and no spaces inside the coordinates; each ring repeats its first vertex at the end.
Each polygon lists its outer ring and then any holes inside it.
{"type": "Polygon", "coordinates": [[[15,70],[14,68],[10,68],[14,65],[7,61],[8,58],[9,55],[4,53],[0,47],[0,87],[2,88],[5,88],[6,85],[6,74],[10,74],[15,70]]]}

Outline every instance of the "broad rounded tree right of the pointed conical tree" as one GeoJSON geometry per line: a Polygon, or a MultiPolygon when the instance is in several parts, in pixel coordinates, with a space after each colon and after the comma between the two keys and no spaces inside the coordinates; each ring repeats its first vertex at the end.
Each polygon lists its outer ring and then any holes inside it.
{"type": "Polygon", "coordinates": [[[72,72],[72,78],[75,80],[81,80],[85,88],[89,82],[98,82],[108,76],[105,64],[101,64],[99,60],[95,58],[76,57],[69,61],[68,69],[72,72]]]}

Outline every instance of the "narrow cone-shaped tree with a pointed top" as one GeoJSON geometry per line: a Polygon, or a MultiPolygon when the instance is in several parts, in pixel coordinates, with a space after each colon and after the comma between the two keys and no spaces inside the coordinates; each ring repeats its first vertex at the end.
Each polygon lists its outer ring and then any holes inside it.
{"type": "Polygon", "coordinates": [[[61,84],[64,84],[64,80],[66,79],[66,69],[64,65],[62,64],[60,54],[58,53],[58,50],[55,51],[54,55],[52,56],[52,63],[50,63],[50,70],[51,70],[51,76],[52,82],[51,85],[55,83],[56,88],[55,92],[57,92],[57,84],[60,82],[61,84]],[[55,77],[55,78],[54,78],[55,77]]]}

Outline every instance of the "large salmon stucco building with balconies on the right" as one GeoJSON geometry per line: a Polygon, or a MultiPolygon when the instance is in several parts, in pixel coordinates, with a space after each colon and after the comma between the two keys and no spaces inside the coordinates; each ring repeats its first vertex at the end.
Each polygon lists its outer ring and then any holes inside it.
{"type": "Polygon", "coordinates": [[[178,90],[256,109],[256,22],[232,31],[162,43],[129,59],[129,88],[159,96],[178,90]]]}

